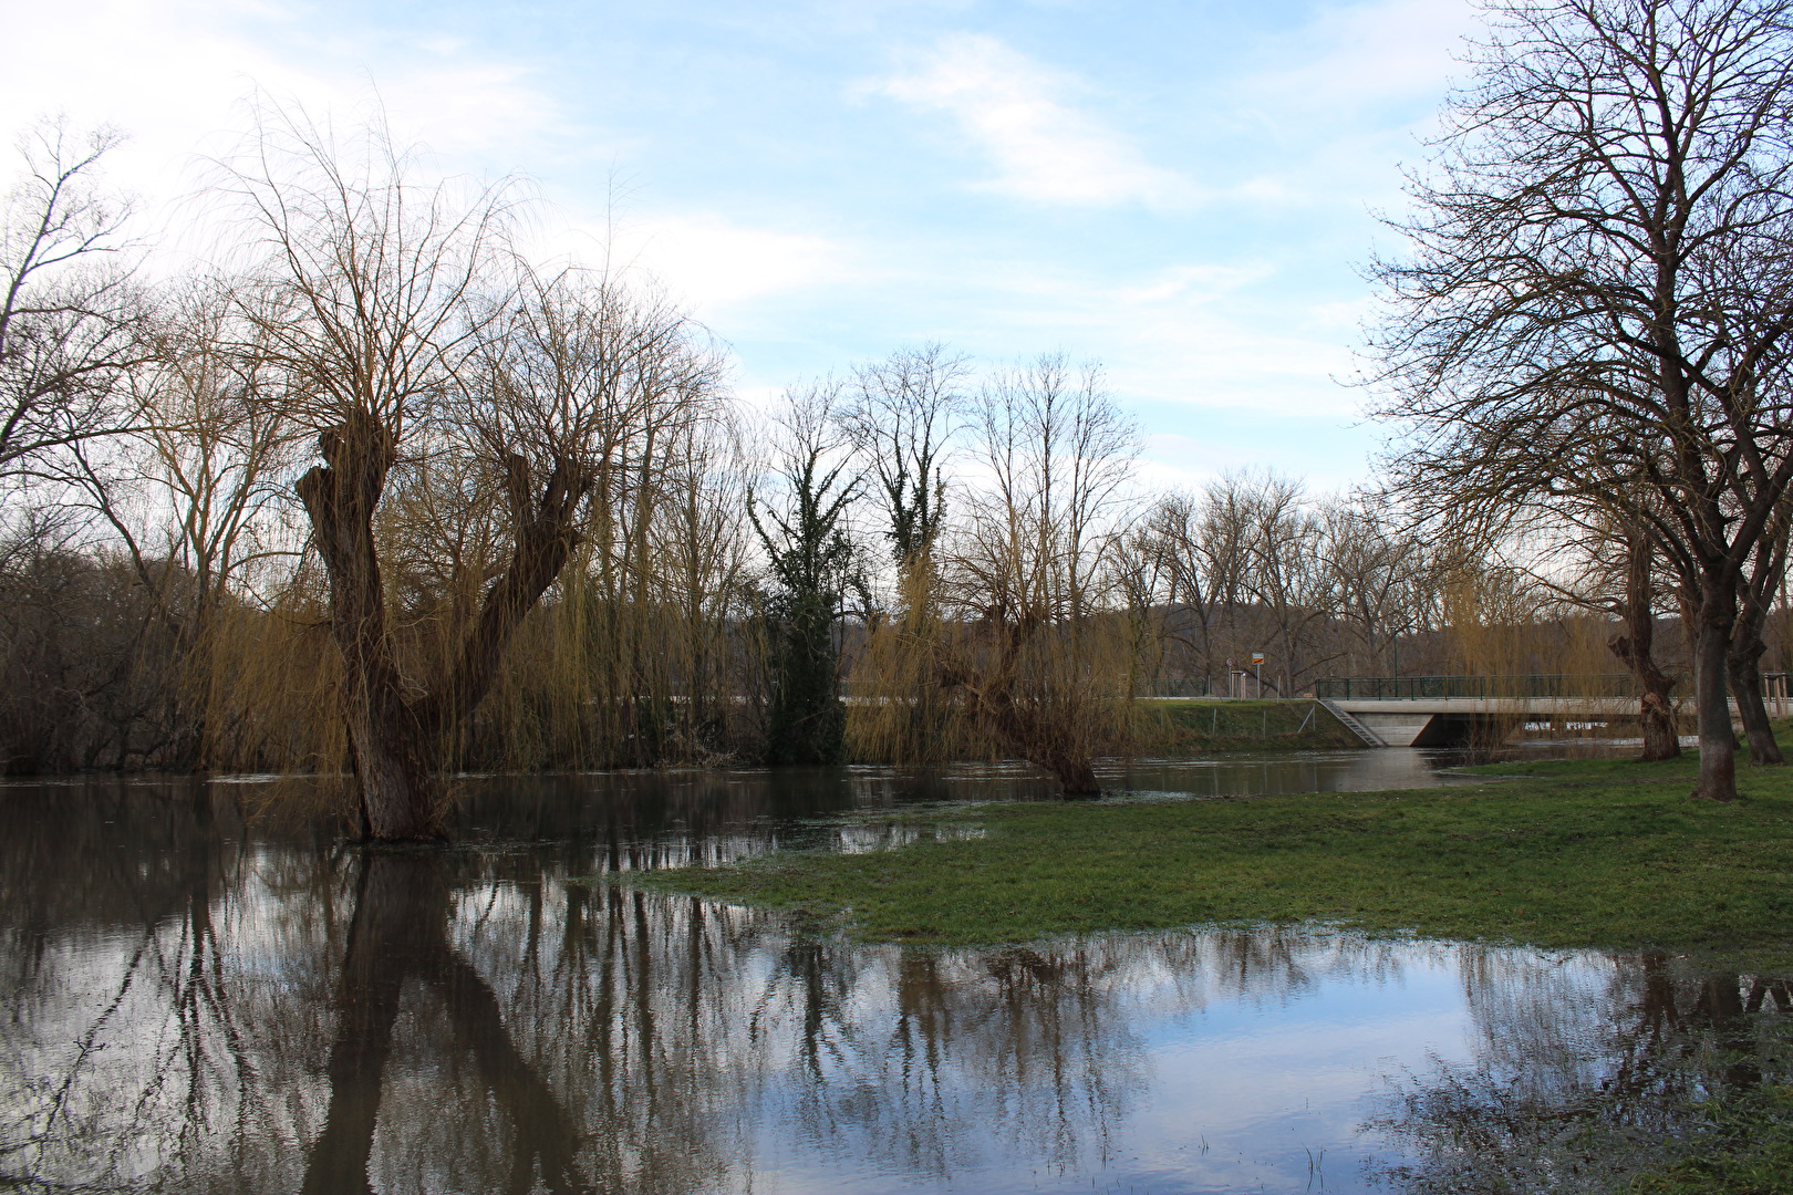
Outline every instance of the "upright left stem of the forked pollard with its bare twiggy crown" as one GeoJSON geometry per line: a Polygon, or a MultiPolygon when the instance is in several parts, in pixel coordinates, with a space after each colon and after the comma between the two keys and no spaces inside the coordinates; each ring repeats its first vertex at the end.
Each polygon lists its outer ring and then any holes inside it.
{"type": "MultiPolygon", "coordinates": [[[[298,496],[330,579],[364,831],[432,838],[439,727],[400,668],[373,520],[389,473],[482,331],[472,314],[506,206],[495,193],[466,202],[448,186],[411,183],[384,131],[355,150],[303,118],[264,113],[233,177],[265,249],[265,287],[246,314],[292,378],[296,417],[317,432],[323,462],[298,496]]],[[[565,507],[583,494],[563,484],[545,498],[565,507]]]]}

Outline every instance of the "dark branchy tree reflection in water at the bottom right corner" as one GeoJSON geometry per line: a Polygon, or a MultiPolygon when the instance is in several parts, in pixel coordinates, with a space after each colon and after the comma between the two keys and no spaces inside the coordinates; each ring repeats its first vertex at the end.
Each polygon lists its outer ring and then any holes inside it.
{"type": "Polygon", "coordinates": [[[1411,1157],[1372,1166],[1390,1188],[1623,1190],[1698,1148],[1707,1100],[1793,1077],[1788,980],[1676,973],[1660,953],[1614,959],[1599,985],[1519,951],[1465,962],[1474,1059],[1406,1077],[1370,1122],[1411,1157]]]}

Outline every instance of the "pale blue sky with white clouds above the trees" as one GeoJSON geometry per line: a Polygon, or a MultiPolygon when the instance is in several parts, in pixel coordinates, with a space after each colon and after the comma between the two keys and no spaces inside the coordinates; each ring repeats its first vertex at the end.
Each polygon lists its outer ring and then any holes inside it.
{"type": "MultiPolygon", "coordinates": [[[[782,387],[940,340],[1101,362],[1144,480],[1364,482],[1363,265],[1468,0],[0,0],[0,133],[129,136],[172,220],[249,97],[518,174],[782,387]]],[[[16,161],[16,159],[14,159],[16,161]]],[[[7,168],[0,177],[11,176],[7,168]]]]}

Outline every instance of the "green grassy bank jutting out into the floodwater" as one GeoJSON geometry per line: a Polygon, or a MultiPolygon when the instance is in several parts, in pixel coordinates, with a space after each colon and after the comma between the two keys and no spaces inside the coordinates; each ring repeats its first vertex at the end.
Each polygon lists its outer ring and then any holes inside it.
{"type": "Polygon", "coordinates": [[[1793,769],[1693,803],[1694,761],[1485,769],[1461,788],[927,813],[986,837],[778,855],[642,883],[809,914],[866,941],[1336,921],[1657,948],[1793,973],[1793,769]]]}

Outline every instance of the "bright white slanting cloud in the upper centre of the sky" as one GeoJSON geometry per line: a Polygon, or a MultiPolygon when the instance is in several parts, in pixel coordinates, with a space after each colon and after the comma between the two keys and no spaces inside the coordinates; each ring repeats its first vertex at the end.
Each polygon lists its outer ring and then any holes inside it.
{"type": "Polygon", "coordinates": [[[940,41],[913,70],[873,88],[904,104],[954,116],[995,167],[979,188],[1078,206],[1196,199],[1189,179],[1146,161],[1117,133],[1063,102],[1078,81],[995,38],[940,41]]]}

